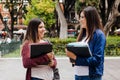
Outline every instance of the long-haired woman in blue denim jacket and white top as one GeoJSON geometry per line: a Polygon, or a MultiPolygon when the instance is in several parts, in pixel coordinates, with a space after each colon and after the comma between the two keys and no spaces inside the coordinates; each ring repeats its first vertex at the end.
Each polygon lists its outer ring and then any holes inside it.
{"type": "Polygon", "coordinates": [[[77,41],[87,42],[92,56],[79,57],[66,50],[66,55],[75,60],[75,80],[102,80],[106,38],[95,7],[88,6],[82,10],[80,24],[77,41]]]}

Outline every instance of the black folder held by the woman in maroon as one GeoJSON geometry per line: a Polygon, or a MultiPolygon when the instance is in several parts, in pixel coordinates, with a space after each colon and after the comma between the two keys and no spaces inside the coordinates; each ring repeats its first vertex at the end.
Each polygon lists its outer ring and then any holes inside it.
{"type": "Polygon", "coordinates": [[[30,58],[36,58],[46,53],[52,52],[52,44],[51,43],[32,43],[30,44],[30,58]]]}

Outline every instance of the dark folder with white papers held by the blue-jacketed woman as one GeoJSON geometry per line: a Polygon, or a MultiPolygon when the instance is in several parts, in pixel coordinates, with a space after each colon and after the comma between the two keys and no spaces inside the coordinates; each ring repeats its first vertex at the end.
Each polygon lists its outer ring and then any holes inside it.
{"type": "Polygon", "coordinates": [[[68,51],[73,52],[79,57],[92,56],[89,45],[86,42],[72,42],[66,45],[68,51]]]}

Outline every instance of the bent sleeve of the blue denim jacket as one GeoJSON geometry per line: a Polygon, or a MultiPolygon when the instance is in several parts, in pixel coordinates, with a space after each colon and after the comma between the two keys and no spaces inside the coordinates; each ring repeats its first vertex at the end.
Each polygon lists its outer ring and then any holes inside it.
{"type": "MultiPolygon", "coordinates": [[[[104,48],[106,39],[104,34],[95,34],[93,38],[94,46],[92,51],[92,57],[89,58],[76,58],[76,65],[83,66],[98,66],[104,62],[104,48]]],[[[92,44],[93,45],[93,44],[92,44]]]]}

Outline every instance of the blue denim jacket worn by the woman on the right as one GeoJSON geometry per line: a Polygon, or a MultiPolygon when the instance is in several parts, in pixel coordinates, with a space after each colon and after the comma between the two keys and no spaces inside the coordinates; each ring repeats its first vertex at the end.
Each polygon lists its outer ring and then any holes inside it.
{"type": "Polygon", "coordinates": [[[106,38],[100,29],[96,29],[93,38],[88,42],[92,56],[89,58],[78,57],[75,60],[77,66],[89,66],[89,76],[102,76],[104,71],[104,49],[106,38]]]}

